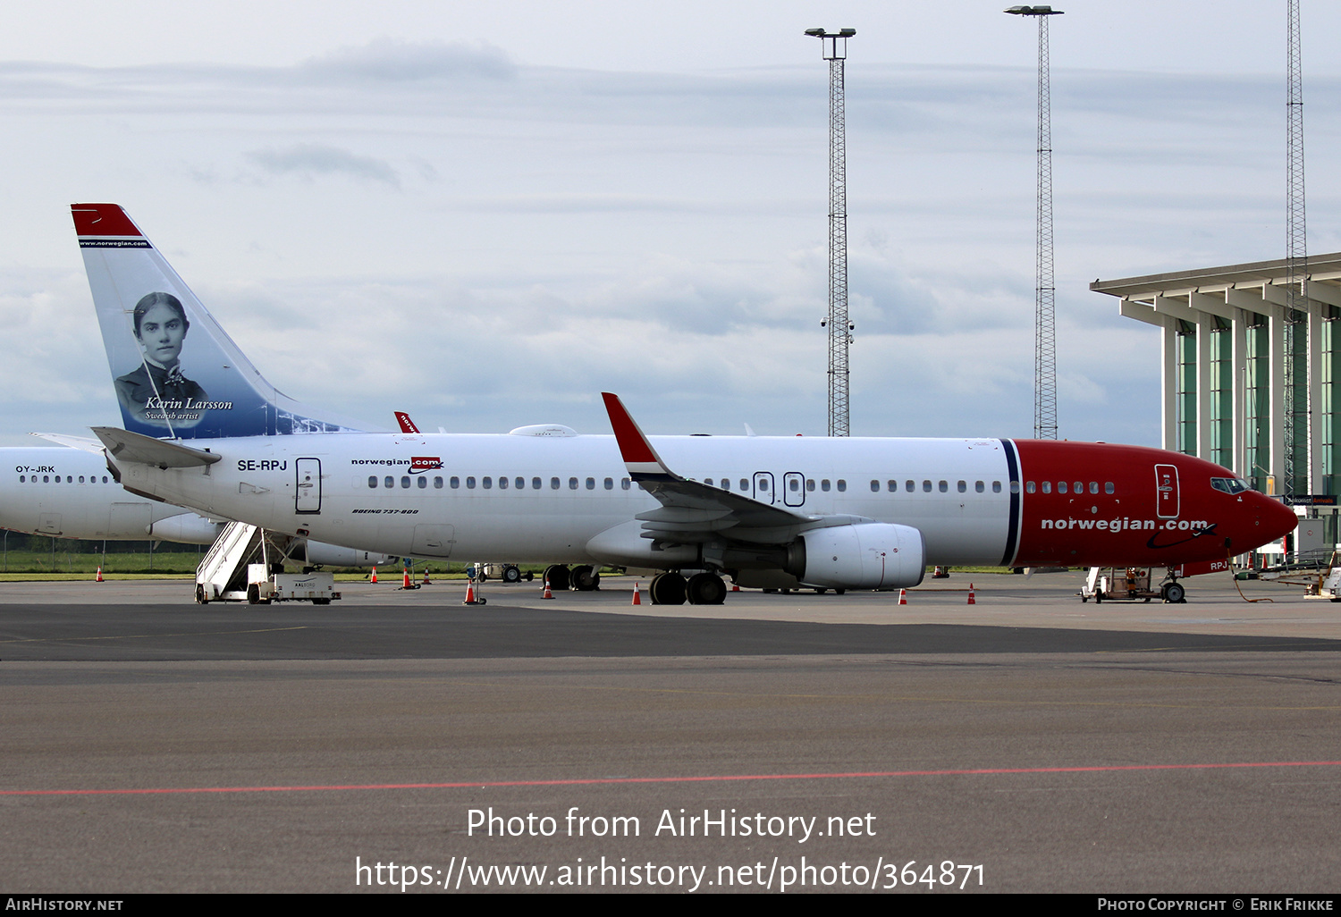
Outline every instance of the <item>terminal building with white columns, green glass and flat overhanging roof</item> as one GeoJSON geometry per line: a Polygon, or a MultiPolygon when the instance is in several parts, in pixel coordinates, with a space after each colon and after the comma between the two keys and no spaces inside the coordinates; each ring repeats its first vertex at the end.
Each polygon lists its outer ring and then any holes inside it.
{"type": "Polygon", "coordinates": [[[1309,527],[1317,543],[1303,544],[1301,528],[1299,550],[1341,540],[1341,253],[1310,256],[1302,287],[1290,335],[1285,259],[1090,284],[1163,331],[1161,445],[1224,465],[1318,520],[1309,527]]]}

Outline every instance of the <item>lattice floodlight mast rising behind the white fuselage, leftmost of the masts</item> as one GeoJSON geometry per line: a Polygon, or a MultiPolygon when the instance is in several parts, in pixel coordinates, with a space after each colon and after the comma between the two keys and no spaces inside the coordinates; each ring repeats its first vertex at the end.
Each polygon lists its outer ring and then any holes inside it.
{"type": "Polygon", "coordinates": [[[854,28],[826,32],[807,28],[823,43],[829,62],[829,436],[849,436],[848,347],[853,323],[848,320],[848,143],[843,137],[843,60],[854,28]]]}

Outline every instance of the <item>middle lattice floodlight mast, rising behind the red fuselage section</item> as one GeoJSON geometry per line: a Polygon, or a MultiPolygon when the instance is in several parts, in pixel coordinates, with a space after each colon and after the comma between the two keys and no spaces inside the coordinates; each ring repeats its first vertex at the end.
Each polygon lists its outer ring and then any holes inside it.
{"type": "Polygon", "coordinates": [[[1053,114],[1049,93],[1047,17],[1051,7],[1011,7],[1038,19],[1038,208],[1034,221],[1034,437],[1057,438],[1057,287],[1053,282],[1053,114]]]}

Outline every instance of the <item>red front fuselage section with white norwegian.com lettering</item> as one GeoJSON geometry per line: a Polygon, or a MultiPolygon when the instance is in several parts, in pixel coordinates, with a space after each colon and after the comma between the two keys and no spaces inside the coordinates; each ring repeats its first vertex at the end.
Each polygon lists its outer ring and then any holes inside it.
{"type": "Polygon", "coordinates": [[[1294,528],[1289,508],[1255,491],[1214,489],[1212,477],[1234,475],[1202,458],[1102,442],[1016,440],[1015,446],[1022,491],[1018,566],[1163,567],[1220,560],[1294,528]],[[1176,503],[1167,489],[1163,503],[1157,500],[1156,465],[1177,469],[1176,503]],[[1043,492],[1045,483],[1050,493],[1043,492]]]}

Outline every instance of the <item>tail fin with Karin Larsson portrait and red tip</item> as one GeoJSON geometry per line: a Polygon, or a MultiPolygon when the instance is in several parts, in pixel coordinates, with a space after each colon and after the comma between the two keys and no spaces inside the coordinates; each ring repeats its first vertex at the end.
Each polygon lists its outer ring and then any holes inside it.
{"type": "Polygon", "coordinates": [[[267,382],[121,206],[70,209],[127,430],[193,440],[359,429],[267,382]]]}

